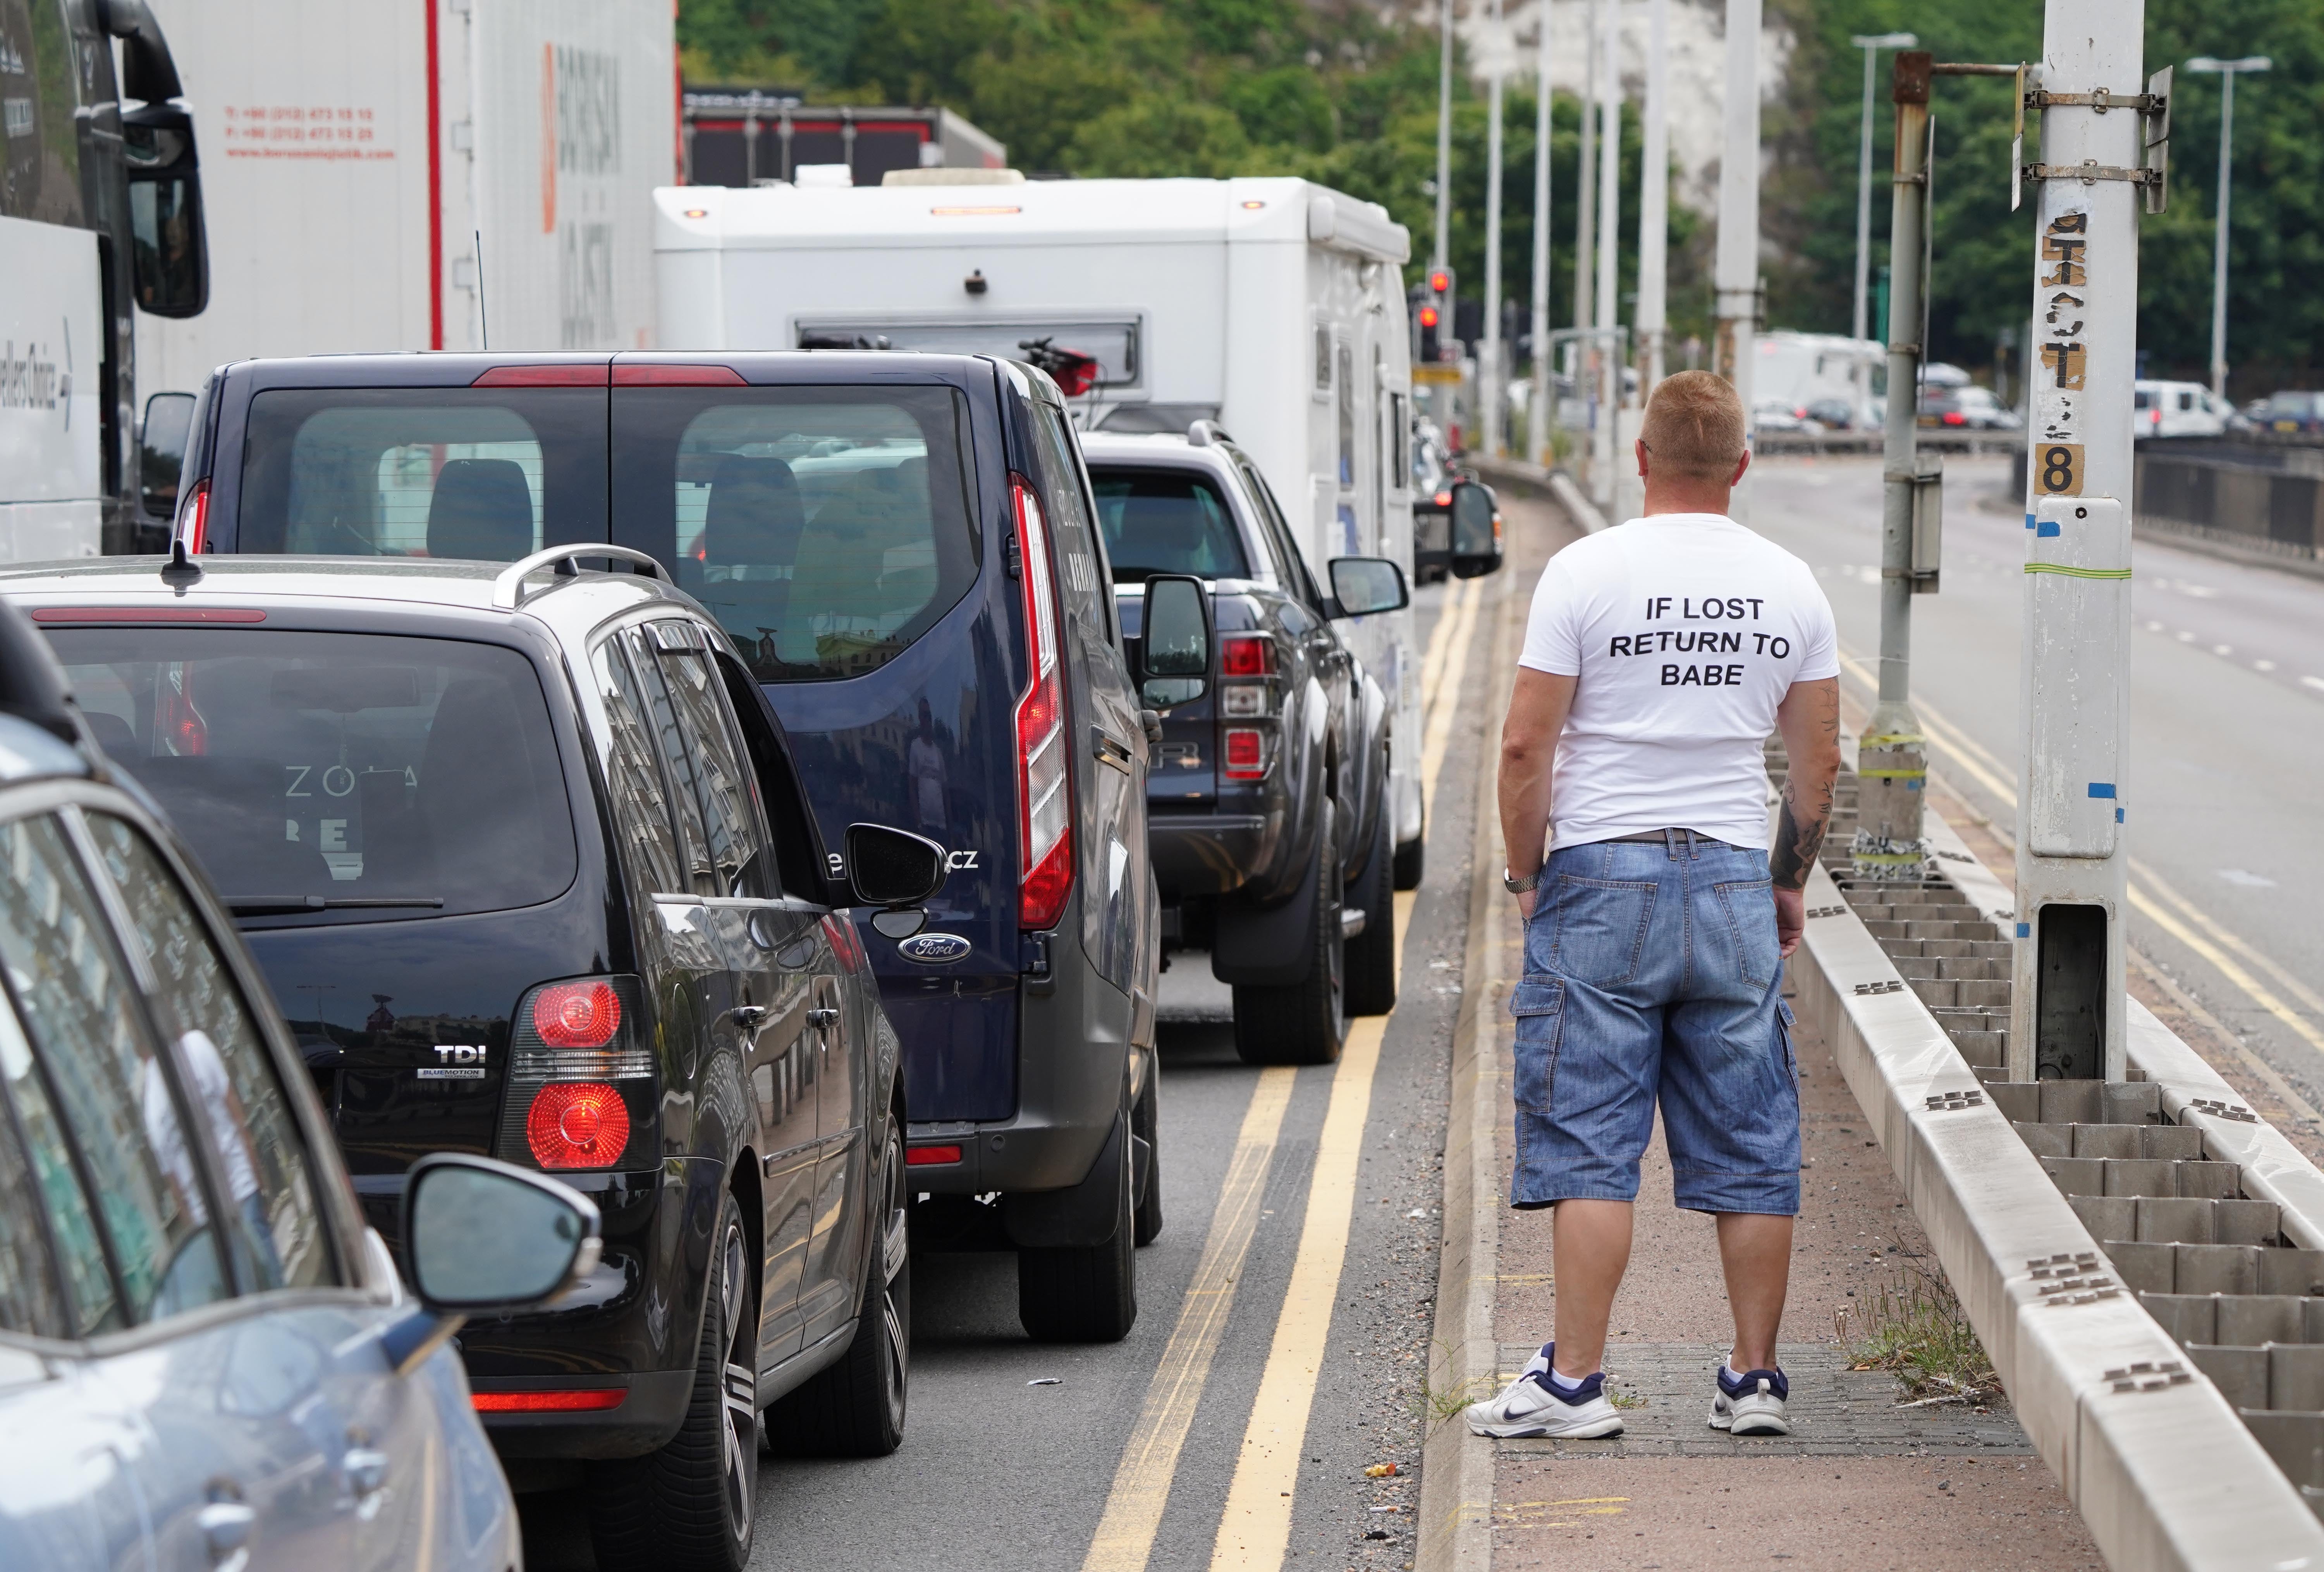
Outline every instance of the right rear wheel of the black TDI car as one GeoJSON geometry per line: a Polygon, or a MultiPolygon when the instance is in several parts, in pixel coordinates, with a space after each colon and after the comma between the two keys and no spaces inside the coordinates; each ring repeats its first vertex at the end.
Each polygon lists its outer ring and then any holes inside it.
{"type": "Polygon", "coordinates": [[[590,1467],[602,1572],[741,1572],[758,1505],[758,1251],[727,1195],[711,1235],[695,1393],[660,1451],[590,1467]]]}

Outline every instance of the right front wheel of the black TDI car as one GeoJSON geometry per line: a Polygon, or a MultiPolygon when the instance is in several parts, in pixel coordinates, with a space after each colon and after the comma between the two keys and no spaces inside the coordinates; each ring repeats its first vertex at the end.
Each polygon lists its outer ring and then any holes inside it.
{"type": "Polygon", "coordinates": [[[904,1186],[904,1123],[888,1121],[888,1151],[871,1195],[878,1239],[865,1260],[855,1342],[767,1409],[767,1439],[792,1458],[885,1458],[904,1444],[911,1388],[911,1191],[904,1186]],[[902,1242],[902,1249],[890,1249],[902,1242]],[[888,1263],[895,1258],[895,1274],[888,1263]]]}

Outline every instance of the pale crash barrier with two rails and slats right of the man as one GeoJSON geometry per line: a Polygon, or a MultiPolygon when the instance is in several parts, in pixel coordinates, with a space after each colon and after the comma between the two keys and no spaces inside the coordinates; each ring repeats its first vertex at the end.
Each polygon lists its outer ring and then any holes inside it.
{"type": "Polygon", "coordinates": [[[1927,828],[1941,877],[1815,870],[1792,977],[2020,1423],[2117,1572],[2324,1572],[2324,1172],[2136,1002],[2131,1081],[2003,1081],[2006,995],[1901,970],[2013,916],[1927,828]]]}

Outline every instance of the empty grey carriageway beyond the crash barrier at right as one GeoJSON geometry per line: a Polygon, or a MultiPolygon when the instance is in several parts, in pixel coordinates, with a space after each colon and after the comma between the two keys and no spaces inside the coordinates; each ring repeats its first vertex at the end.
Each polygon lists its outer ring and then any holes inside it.
{"type": "MultiPolygon", "coordinates": [[[[1769,458],[1752,528],[1815,565],[1868,700],[1880,460],[1769,458]]],[[[2133,951],[2324,1102],[2324,581],[2140,537],[2131,551],[2133,951]]],[[[2024,512],[2008,460],[1948,458],[1945,567],[1913,600],[1913,700],[1945,786],[2015,830],[2024,512]]]]}

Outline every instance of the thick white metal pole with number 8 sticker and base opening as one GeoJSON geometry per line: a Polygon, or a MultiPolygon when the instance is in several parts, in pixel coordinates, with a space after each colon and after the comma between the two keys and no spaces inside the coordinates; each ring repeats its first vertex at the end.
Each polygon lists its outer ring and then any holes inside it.
{"type": "MultiPolygon", "coordinates": [[[[2143,116],[2089,105],[2145,88],[2145,0],[2043,7],[2033,193],[2031,412],[2020,677],[2010,1079],[2124,1070],[2131,381],[2138,363],[2143,116]]],[[[2031,130],[2031,128],[2029,128],[2031,130]]],[[[1892,388],[1889,398],[1903,398],[1892,388]]]]}

